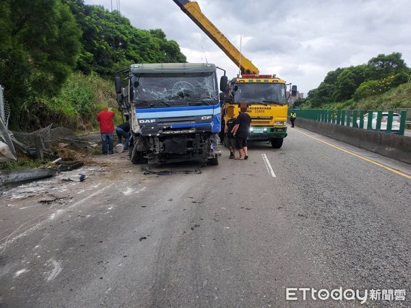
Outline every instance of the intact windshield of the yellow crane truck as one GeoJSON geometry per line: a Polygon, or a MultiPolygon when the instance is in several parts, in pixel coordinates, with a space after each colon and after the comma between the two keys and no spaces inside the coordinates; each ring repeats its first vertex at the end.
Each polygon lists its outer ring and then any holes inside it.
{"type": "Polygon", "coordinates": [[[236,84],[234,103],[286,104],[286,86],[284,84],[236,84]]]}

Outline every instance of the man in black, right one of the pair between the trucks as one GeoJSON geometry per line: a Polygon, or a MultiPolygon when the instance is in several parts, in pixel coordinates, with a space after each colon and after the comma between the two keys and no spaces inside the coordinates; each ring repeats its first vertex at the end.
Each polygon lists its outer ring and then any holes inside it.
{"type": "Polygon", "coordinates": [[[247,114],[247,103],[240,103],[240,114],[236,119],[236,125],[232,129],[232,133],[236,136],[236,149],[240,153],[238,160],[248,158],[247,138],[250,131],[251,117],[247,114]]]}

